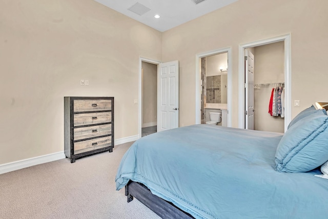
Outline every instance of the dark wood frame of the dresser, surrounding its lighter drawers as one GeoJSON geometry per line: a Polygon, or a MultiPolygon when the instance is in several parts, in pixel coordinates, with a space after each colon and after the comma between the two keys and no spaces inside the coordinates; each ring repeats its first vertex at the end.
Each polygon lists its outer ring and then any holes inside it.
{"type": "MultiPolygon", "coordinates": [[[[88,125],[86,125],[87,127],[88,125]]],[[[80,126],[84,127],[84,126],[80,126]]],[[[97,153],[102,153],[105,151],[113,152],[114,148],[114,97],[82,97],[82,96],[65,96],[64,97],[64,148],[65,148],[65,155],[66,157],[70,158],[71,163],[74,163],[76,159],[81,157],[90,156],[97,153]],[[111,109],[110,110],[99,110],[99,111],[92,111],[92,113],[97,112],[111,112],[111,122],[109,123],[102,123],[98,125],[104,124],[111,124],[111,134],[91,137],[88,140],[99,138],[99,137],[106,137],[111,136],[111,146],[98,148],[91,151],[81,152],[74,154],[74,114],[79,113],[91,113],[90,111],[83,111],[83,112],[74,112],[74,100],[99,100],[99,99],[111,99],[111,109]]]]}

